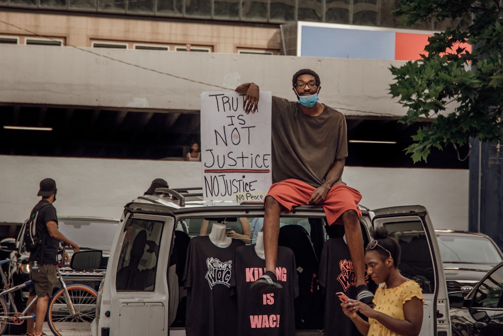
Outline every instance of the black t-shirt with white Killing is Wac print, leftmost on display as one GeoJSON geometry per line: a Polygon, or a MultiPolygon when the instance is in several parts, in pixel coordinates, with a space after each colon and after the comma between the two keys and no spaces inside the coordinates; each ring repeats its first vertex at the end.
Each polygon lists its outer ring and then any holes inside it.
{"type": "Polygon", "coordinates": [[[237,303],[234,258],[244,245],[232,239],[228,247],[214,245],[208,236],[189,243],[184,275],[187,291],[187,336],[228,336],[236,333],[237,303]]]}

